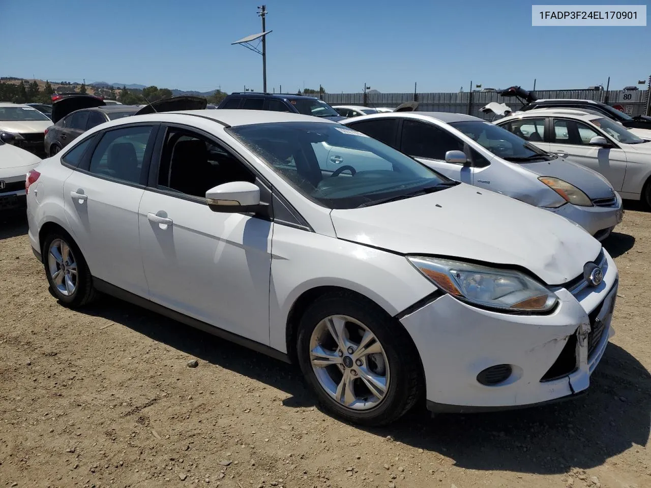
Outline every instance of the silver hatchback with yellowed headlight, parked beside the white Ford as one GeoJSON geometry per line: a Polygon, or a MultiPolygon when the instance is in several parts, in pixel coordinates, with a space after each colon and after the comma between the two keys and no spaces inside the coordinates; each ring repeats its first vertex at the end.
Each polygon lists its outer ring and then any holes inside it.
{"type": "MultiPolygon", "coordinates": [[[[603,240],[622,220],[622,199],[600,174],[470,115],[387,113],[342,122],[415,157],[449,178],[562,215],[603,240]]],[[[327,156],[346,165],[346,148],[327,156]]],[[[373,164],[369,161],[369,164],[373,164]]]]}

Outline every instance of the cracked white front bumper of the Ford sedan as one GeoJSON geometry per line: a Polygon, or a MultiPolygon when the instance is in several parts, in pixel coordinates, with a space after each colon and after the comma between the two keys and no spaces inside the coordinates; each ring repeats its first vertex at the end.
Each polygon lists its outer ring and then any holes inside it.
{"type": "Polygon", "coordinates": [[[428,408],[435,412],[494,411],[573,398],[590,375],[609,338],[618,287],[615,263],[605,253],[597,287],[555,290],[559,305],[546,316],[482,310],[450,295],[401,319],[421,355],[428,408]],[[499,383],[480,373],[508,365],[499,383]]]}

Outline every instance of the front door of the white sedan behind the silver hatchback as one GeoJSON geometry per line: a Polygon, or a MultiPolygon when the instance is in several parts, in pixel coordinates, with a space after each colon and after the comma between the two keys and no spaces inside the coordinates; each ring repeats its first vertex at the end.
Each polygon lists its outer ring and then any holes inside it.
{"type": "Polygon", "coordinates": [[[622,191],[626,174],[626,153],[616,144],[603,148],[590,144],[592,137],[605,137],[580,120],[551,119],[549,151],[575,163],[589,167],[605,176],[616,191],[622,191]]]}

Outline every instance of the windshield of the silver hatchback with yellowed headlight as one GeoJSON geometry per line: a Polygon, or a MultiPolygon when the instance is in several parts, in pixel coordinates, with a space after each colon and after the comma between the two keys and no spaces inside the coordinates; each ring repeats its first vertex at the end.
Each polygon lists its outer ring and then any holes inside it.
{"type": "Polygon", "coordinates": [[[490,122],[469,120],[466,122],[451,122],[450,126],[462,131],[473,141],[484,146],[495,156],[506,159],[506,161],[526,163],[527,161],[549,159],[549,155],[543,150],[536,148],[533,144],[529,144],[521,137],[500,126],[490,124],[490,122]]]}

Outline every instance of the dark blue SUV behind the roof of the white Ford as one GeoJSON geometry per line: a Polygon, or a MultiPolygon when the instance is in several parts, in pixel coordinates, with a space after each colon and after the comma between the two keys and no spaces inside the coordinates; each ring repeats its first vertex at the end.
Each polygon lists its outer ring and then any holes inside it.
{"type": "Polygon", "coordinates": [[[302,113],[335,121],[345,118],[316,97],[286,93],[234,92],[222,100],[217,108],[302,113]]]}

